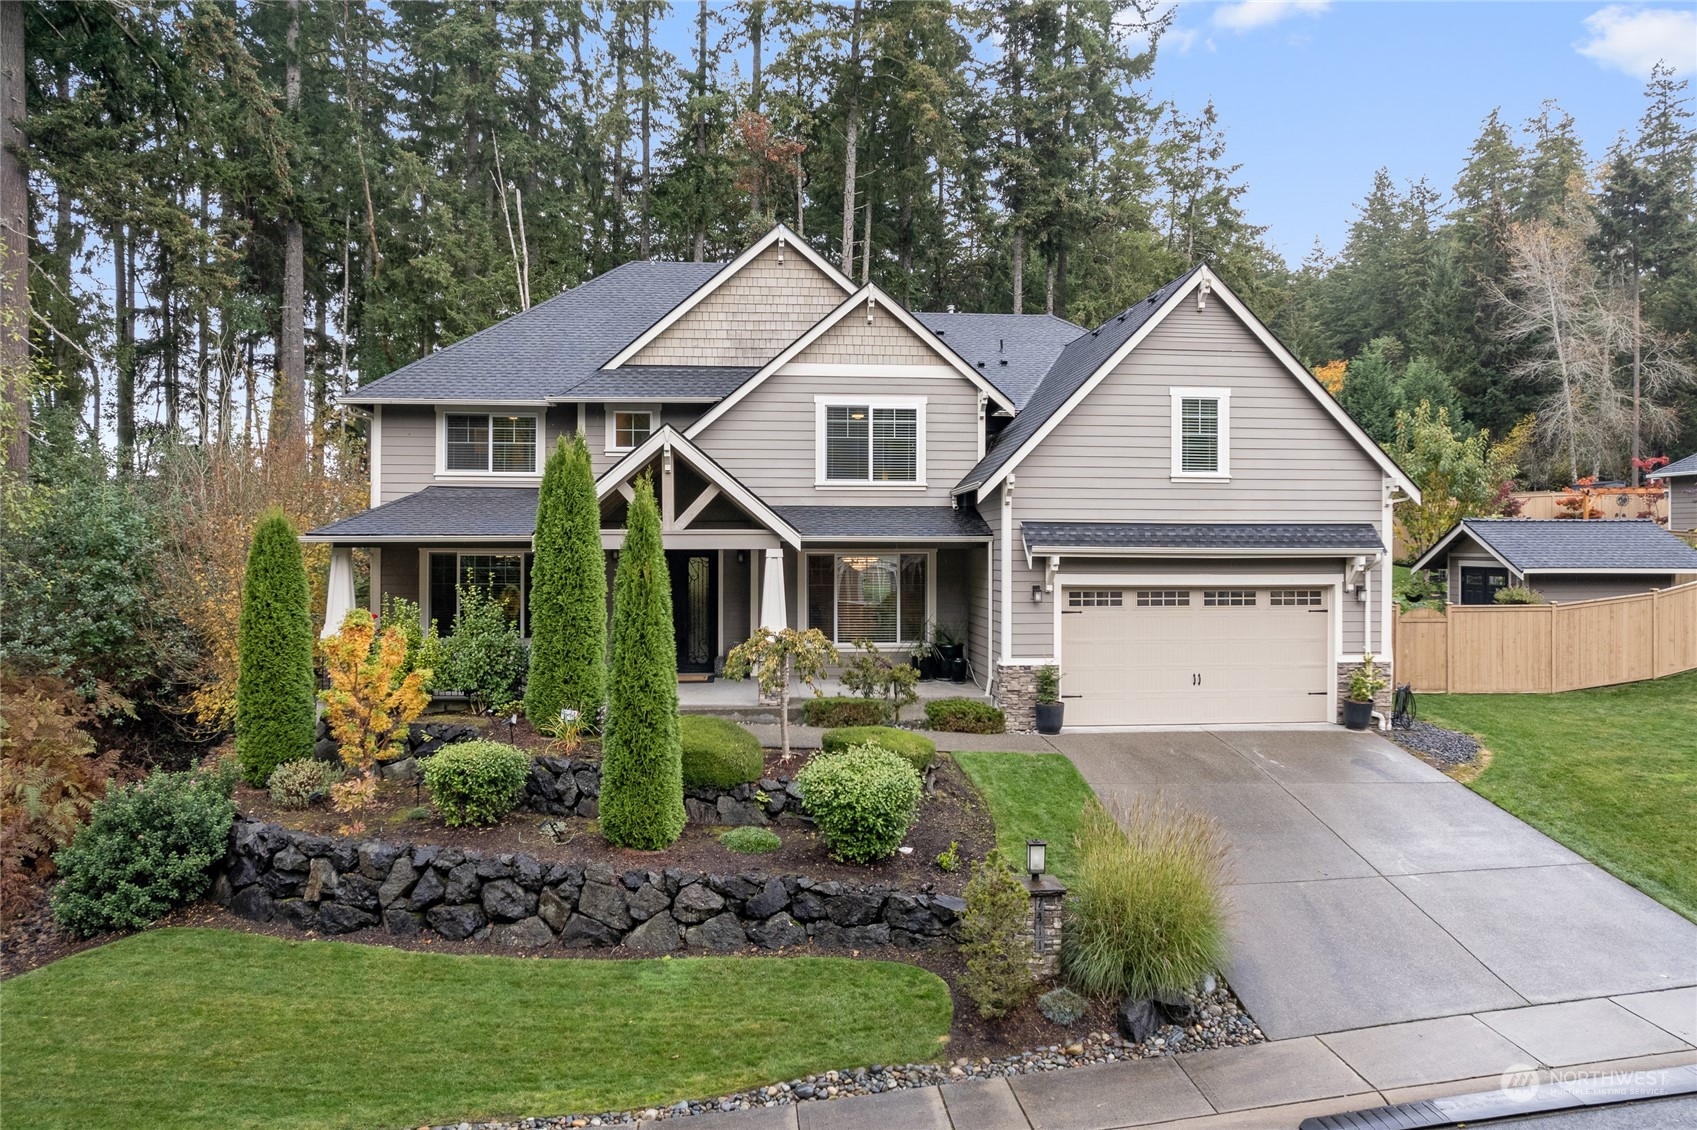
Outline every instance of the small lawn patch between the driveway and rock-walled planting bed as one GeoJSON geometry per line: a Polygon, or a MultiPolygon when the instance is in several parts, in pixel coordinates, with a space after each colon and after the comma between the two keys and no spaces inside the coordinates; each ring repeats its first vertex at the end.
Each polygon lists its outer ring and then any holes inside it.
{"type": "Polygon", "coordinates": [[[1049,842],[1049,870],[1073,882],[1073,833],[1095,794],[1061,753],[954,753],[996,820],[996,845],[1015,867],[1027,840],[1049,842]]]}

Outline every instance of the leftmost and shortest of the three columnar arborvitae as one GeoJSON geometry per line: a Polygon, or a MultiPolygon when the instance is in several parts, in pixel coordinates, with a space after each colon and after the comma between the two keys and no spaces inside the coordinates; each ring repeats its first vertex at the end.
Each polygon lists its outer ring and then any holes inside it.
{"type": "Polygon", "coordinates": [[[236,757],[248,784],[263,786],[283,762],[312,755],[316,723],[307,570],[282,511],[253,531],[236,648],[236,757]]]}

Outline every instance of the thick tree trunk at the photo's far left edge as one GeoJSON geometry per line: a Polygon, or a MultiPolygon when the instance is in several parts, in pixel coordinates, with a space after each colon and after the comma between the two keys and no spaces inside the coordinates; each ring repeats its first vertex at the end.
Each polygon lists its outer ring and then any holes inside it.
{"type": "Polygon", "coordinates": [[[29,470],[29,176],[24,173],[24,5],[0,3],[0,382],[15,431],[7,470],[29,470]]]}

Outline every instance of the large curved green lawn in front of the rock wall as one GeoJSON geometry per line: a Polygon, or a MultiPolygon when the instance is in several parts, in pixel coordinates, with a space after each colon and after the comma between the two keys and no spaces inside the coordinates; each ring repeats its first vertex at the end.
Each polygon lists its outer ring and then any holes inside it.
{"type": "Polygon", "coordinates": [[[156,930],[0,986],[0,1125],[417,1127],[935,1059],[947,986],[847,959],[450,957],[156,930]]]}

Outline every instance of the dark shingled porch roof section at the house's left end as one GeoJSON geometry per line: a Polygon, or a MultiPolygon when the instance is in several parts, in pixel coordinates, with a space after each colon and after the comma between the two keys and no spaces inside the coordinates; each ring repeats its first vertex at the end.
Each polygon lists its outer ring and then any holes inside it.
{"type": "Polygon", "coordinates": [[[302,541],[529,541],[536,487],[424,487],[304,534],[302,541]]]}

